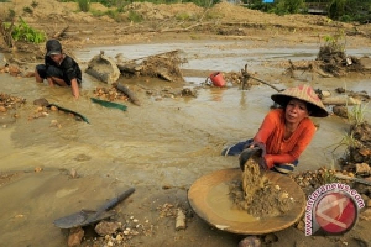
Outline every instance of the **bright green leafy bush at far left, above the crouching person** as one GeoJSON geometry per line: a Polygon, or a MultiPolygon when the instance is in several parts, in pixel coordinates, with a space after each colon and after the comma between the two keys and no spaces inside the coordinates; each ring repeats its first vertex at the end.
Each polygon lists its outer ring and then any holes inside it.
{"type": "MultiPolygon", "coordinates": [[[[5,28],[9,28],[11,23],[4,23],[5,28]]],[[[28,26],[26,21],[19,17],[19,24],[14,25],[12,31],[14,41],[26,41],[32,43],[41,43],[46,39],[45,33],[28,26]]]]}

